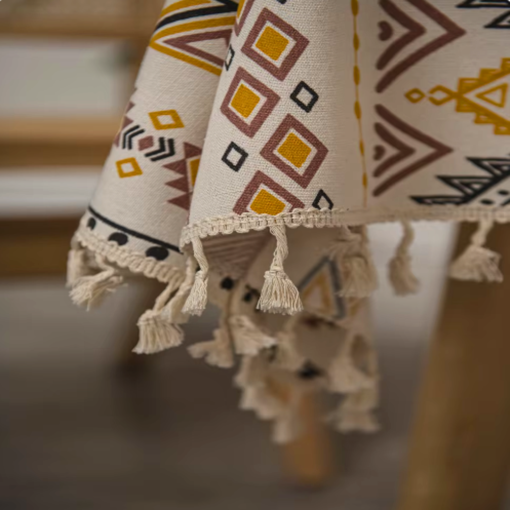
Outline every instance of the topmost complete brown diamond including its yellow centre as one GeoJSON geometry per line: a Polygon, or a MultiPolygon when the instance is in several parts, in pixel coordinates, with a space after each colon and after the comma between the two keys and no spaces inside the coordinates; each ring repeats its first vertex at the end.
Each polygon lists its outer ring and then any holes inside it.
{"type": "Polygon", "coordinates": [[[308,44],[307,38],[265,8],[248,35],[242,52],[283,81],[308,44]]]}

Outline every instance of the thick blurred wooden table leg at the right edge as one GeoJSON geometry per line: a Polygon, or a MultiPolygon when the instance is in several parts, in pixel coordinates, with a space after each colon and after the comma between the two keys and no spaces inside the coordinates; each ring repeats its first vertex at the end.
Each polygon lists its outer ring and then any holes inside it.
{"type": "MultiPolygon", "coordinates": [[[[457,253],[473,225],[462,225],[457,253]]],[[[497,510],[510,467],[510,225],[488,247],[503,284],[449,280],[398,510],[497,510]]]]}

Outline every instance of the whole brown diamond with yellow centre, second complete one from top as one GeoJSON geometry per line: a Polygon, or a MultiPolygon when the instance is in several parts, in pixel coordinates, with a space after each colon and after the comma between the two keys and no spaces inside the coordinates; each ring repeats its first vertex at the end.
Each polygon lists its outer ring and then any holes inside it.
{"type": "Polygon", "coordinates": [[[240,67],[220,110],[242,133],[253,138],[279,100],[275,92],[240,67]]]}

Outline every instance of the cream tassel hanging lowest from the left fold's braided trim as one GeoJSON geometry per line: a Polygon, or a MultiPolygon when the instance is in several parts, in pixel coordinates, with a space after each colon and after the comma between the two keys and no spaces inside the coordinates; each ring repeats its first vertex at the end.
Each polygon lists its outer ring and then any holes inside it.
{"type": "Polygon", "coordinates": [[[133,352],[137,354],[155,354],[157,352],[177,347],[183,343],[183,330],[163,315],[163,309],[170,300],[170,296],[181,285],[182,274],[175,276],[168,283],[163,293],[156,299],[152,310],[147,310],[138,320],[140,339],[133,352]]]}

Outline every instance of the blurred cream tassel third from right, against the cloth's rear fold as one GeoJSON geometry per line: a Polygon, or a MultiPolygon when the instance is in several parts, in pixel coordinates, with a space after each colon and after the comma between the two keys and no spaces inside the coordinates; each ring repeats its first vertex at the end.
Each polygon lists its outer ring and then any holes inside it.
{"type": "Polygon", "coordinates": [[[368,246],[366,227],[353,233],[340,227],[340,236],[331,249],[331,257],[338,257],[341,265],[342,297],[368,297],[377,289],[377,271],[368,246]]]}

